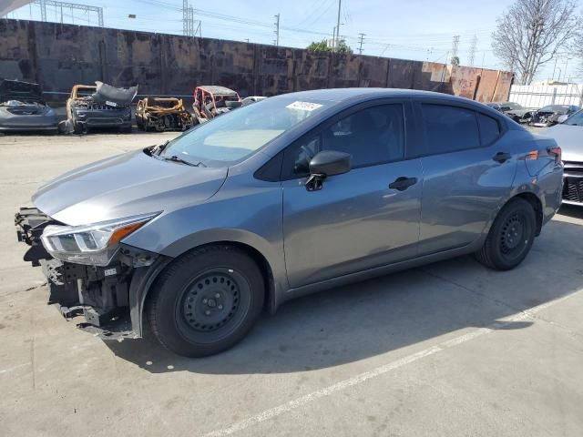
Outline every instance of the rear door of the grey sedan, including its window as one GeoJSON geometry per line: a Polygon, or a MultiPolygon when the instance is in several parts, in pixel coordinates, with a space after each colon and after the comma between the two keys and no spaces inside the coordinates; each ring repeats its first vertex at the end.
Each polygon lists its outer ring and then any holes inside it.
{"type": "Polygon", "coordinates": [[[517,170],[506,125],[473,106],[422,101],[424,172],[420,255],[478,239],[507,198],[517,170]]]}

